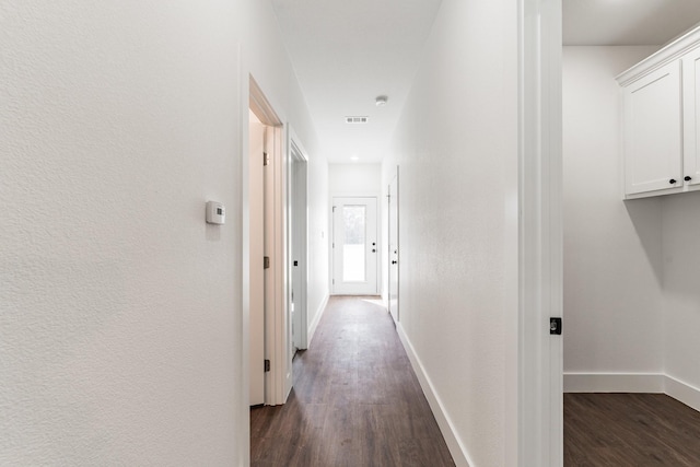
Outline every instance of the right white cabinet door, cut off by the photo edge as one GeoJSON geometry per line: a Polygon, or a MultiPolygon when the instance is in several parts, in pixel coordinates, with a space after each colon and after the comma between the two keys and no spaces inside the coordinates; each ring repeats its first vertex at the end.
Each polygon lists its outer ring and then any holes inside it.
{"type": "Polygon", "coordinates": [[[682,58],[684,177],[700,188],[700,47],[682,58]]]}

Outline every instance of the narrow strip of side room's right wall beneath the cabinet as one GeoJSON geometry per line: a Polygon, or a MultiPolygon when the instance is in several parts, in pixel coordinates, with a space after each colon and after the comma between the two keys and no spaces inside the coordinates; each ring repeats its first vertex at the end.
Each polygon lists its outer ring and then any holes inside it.
{"type": "Polygon", "coordinates": [[[700,192],[663,199],[666,374],[700,392],[700,192]]]}

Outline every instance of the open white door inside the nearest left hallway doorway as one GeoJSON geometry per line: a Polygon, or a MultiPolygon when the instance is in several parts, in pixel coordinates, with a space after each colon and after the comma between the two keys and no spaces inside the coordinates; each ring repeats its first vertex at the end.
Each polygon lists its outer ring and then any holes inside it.
{"type": "Polygon", "coordinates": [[[249,390],[250,405],[265,402],[265,189],[262,152],[265,151],[265,125],[250,113],[249,148],[249,390]]]}

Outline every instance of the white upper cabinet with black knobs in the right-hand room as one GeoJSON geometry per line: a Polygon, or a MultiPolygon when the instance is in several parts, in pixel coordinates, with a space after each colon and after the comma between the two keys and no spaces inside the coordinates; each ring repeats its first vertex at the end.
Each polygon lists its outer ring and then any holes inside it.
{"type": "Polygon", "coordinates": [[[700,28],[617,80],[625,198],[700,189],[700,28]]]}

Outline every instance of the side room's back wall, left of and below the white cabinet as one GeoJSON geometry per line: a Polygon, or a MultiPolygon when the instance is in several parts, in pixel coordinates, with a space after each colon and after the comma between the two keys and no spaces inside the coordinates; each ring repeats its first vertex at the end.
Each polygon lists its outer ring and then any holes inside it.
{"type": "Polygon", "coordinates": [[[622,201],[615,77],[655,47],[564,47],[564,372],[663,369],[662,205],[622,201]]]}

